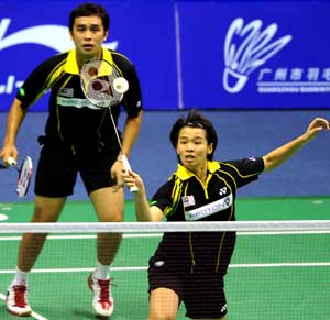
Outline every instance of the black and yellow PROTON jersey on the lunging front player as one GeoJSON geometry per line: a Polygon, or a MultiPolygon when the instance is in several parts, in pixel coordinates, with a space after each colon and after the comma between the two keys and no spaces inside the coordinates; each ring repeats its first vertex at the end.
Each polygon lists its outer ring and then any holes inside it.
{"type": "MultiPolygon", "coordinates": [[[[153,196],[167,221],[234,221],[237,189],[256,180],[263,158],[208,162],[205,184],[180,164],[153,196]]],[[[155,254],[178,272],[226,274],[235,232],[166,232],[155,254]]]]}

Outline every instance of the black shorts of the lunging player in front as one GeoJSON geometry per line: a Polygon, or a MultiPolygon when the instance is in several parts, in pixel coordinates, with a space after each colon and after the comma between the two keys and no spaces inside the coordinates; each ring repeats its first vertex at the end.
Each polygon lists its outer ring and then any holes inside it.
{"type": "Polygon", "coordinates": [[[184,273],[163,261],[150,260],[150,291],[156,288],[174,290],[185,304],[186,317],[191,319],[222,318],[227,315],[223,276],[218,273],[184,273]]]}

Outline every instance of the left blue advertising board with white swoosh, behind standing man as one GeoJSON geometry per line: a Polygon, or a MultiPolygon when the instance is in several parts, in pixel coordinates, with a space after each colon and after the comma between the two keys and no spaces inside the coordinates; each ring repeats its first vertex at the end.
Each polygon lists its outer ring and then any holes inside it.
{"type": "MultiPolygon", "coordinates": [[[[73,47],[67,20],[81,1],[0,1],[0,110],[8,110],[28,74],[73,47]]],[[[146,108],[176,108],[176,54],[170,2],[98,1],[110,13],[107,47],[135,65],[146,108]],[[164,64],[164,59],[166,64],[164,64]]],[[[32,110],[47,110],[47,97],[32,110]]]]}

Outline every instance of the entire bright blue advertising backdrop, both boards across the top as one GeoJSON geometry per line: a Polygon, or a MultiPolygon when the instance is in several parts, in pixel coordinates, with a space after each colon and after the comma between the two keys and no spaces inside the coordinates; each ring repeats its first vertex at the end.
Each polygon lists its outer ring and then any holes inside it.
{"type": "MultiPolygon", "coordinates": [[[[0,0],[0,111],[73,46],[67,16],[80,2],[0,0]]],[[[145,109],[330,109],[327,1],[98,3],[111,15],[106,46],[136,66],[145,109]]],[[[44,97],[32,110],[46,109],[44,97]]]]}

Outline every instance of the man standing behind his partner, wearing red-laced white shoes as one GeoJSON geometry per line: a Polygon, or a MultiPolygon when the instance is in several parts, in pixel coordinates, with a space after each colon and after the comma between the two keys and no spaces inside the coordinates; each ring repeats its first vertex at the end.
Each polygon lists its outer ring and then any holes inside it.
{"type": "MultiPolygon", "coordinates": [[[[109,32],[106,9],[94,3],[75,8],[69,14],[69,34],[75,48],[40,64],[20,88],[9,111],[7,132],[0,157],[16,159],[15,146],[20,125],[28,109],[51,89],[48,119],[35,176],[35,209],[32,222],[57,221],[67,197],[73,195],[77,174],[101,222],[123,219],[121,153],[130,155],[142,121],[142,98],[133,64],[122,54],[102,47],[109,32]],[[103,59],[119,70],[128,88],[122,100],[111,107],[117,126],[121,107],[127,112],[122,150],[117,128],[108,108],[96,108],[82,92],[80,68],[90,59],[103,59]]],[[[45,234],[24,234],[15,276],[8,288],[7,309],[16,316],[29,316],[28,276],[46,239],[45,234]]],[[[97,266],[88,284],[92,307],[98,316],[113,312],[110,290],[110,264],[121,242],[121,234],[98,234],[97,266]]],[[[65,258],[65,257],[63,257],[65,258]]],[[[33,294],[33,288],[29,288],[33,294]]]]}

